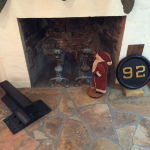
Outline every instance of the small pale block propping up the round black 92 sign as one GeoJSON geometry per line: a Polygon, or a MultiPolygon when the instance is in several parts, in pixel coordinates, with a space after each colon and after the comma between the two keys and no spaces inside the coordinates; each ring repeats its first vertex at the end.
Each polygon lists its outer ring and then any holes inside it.
{"type": "Polygon", "coordinates": [[[123,91],[123,94],[126,96],[126,97],[131,97],[131,96],[143,96],[144,95],[144,92],[143,90],[140,88],[140,89],[134,89],[134,90],[131,90],[131,89],[127,89],[127,88],[124,88],[122,89],[123,91]]]}

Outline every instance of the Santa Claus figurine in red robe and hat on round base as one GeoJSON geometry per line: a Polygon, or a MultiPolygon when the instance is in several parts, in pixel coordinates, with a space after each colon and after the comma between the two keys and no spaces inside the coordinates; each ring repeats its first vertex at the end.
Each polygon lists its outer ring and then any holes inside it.
{"type": "Polygon", "coordinates": [[[93,98],[99,98],[106,93],[107,84],[107,65],[111,65],[111,57],[106,52],[96,54],[96,59],[92,67],[92,85],[89,88],[88,95],[93,98]]]}

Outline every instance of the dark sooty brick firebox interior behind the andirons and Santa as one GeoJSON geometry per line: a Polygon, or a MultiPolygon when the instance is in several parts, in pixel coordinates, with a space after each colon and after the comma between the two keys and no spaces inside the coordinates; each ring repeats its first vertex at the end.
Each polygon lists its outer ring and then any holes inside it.
{"type": "MultiPolygon", "coordinates": [[[[84,62],[83,49],[91,49],[88,65],[92,68],[95,54],[106,51],[113,64],[108,67],[108,84],[115,83],[115,70],[119,61],[125,16],[82,18],[19,18],[24,54],[32,87],[49,87],[56,76],[55,49],[61,49],[62,76],[74,86],[81,76],[84,62]]],[[[91,70],[87,73],[92,76],[91,70]]]]}

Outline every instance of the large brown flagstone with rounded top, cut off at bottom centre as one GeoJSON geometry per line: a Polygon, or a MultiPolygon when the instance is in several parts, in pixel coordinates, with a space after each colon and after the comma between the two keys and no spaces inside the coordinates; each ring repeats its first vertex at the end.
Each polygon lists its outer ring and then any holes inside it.
{"type": "Polygon", "coordinates": [[[87,150],[91,144],[88,130],[78,118],[65,121],[57,150],[87,150]]]}

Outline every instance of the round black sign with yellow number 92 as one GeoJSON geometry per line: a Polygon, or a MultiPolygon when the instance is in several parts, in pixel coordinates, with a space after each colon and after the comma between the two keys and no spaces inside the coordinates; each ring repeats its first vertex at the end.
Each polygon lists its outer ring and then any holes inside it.
{"type": "Polygon", "coordinates": [[[150,62],[141,55],[131,55],[118,64],[119,83],[129,89],[141,88],[150,80],[150,62]]]}

